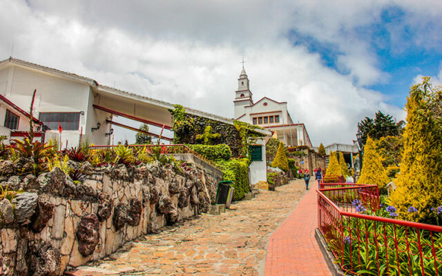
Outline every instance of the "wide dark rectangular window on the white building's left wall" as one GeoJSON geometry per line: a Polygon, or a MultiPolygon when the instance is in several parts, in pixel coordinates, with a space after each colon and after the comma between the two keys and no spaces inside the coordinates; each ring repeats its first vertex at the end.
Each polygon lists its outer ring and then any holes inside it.
{"type": "Polygon", "coordinates": [[[58,124],[61,124],[63,130],[78,130],[80,123],[79,112],[51,112],[40,113],[40,121],[43,122],[49,130],[57,130],[58,124]]]}

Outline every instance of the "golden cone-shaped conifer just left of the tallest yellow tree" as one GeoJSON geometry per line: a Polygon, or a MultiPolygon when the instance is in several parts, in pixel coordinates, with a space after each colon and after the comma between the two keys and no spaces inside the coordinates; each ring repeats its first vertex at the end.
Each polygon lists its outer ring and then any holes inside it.
{"type": "Polygon", "coordinates": [[[385,186],[390,182],[390,178],[387,176],[387,171],[382,165],[381,155],[376,152],[376,144],[371,137],[367,137],[363,164],[358,184],[377,185],[380,193],[386,193],[385,186]]]}

